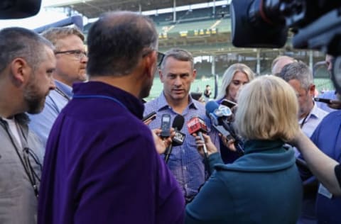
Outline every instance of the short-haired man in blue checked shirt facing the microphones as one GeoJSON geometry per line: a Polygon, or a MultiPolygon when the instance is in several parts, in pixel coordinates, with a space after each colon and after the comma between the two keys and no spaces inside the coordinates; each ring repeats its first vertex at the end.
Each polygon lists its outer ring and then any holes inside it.
{"type": "MultiPolygon", "coordinates": [[[[145,104],[144,115],[153,111],[157,113],[156,119],[148,125],[151,129],[161,127],[161,118],[165,113],[171,115],[171,121],[178,114],[185,118],[185,125],[181,129],[186,135],[185,140],[183,145],[173,147],[168,167],[180,184],[185,200],[189,202],[205,182],[205,166],[186,123],[194,116],[199,116],[210,127],[205,106],[190,96],[190,85],[196,77],[192,54],[183,49],[168,50],[161,63],[159,76],[163,91],[158,98],[145,104]]],[[[217,133],[214,130],[209,133],[215,145],[219,145],[217,133]]]]}

